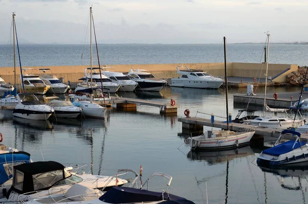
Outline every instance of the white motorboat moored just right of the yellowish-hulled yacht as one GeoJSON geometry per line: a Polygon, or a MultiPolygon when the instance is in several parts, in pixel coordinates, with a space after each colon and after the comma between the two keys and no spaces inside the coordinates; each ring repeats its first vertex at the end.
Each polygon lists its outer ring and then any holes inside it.
{"type": "Polygon", "coordinates": [[[62,83],[55,75],[52,74],[50,69],[38,69],[44,74],[41,74],[41,79],[46,85],[50,85],[50,88],[47,90],[47,93],[53,94],[65,94],[69,89],[69,85],[62,83]],[[46,74],[49,71],[50,73],[46,74]]]}

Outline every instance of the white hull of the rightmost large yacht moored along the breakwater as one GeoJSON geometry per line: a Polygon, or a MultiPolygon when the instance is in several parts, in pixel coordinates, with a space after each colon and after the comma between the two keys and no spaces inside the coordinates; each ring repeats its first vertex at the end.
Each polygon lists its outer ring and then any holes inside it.
{"type": "Polygon", "coordinates": [[[223,81],[201,81],[201,80],[183,80],[174,78],[171,79],[170,86],[188,87],[188,88],[213,88],[217,89],[222,85],[223,81]]]}

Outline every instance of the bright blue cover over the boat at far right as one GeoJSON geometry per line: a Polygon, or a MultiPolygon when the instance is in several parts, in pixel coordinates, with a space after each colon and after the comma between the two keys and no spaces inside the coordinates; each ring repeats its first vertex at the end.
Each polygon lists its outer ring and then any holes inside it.
{"type": "MultiPolygon", "coordinates": [[[[290,141],[281,143],[281,144],[279,144],[275,147],[263,150],[262,153],[268,154],[268,155],[273,155],[273,156],[279,156],[281,154],[285,154],[287,152],[292,151],[292,147],[294,145],[294,142],[295,142],[294,140],[290,140],[290,141]]],[[[305,142],[297,141],[295,146],[294,146],[294,149],[297,149],[301,146],[304,146],[305,144],[306,144],[305,142]]]]}

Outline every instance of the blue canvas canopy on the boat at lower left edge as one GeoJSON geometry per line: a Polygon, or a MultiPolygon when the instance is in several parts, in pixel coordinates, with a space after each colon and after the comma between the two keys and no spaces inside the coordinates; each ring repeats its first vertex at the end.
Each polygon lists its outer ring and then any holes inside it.
{"type": "Polygon", "coordinates": [[[23,151],[0,154],[0,185],[12,177],[12,163],[13,166],[30,163],[30,154],[23,151]]]}

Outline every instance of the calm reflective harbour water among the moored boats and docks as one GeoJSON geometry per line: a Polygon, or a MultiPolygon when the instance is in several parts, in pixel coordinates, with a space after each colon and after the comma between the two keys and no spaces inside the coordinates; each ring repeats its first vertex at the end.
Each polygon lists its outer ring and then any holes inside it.
{"type": "MultiPolygon", "coordinates": [[[[281,90],[270,88],[269,92],[281,90]]],[[[230,90],[233,116],[238,108],[233,107],[232,95],[243,92],[230,90]]],[[[93,173],[102,175],[113,175],[119,168],[139,171],[142,165],[143,180],[152,172],[170,174],[169,192],[196,203],[206,203],[206,184],[208,203],[306,203],[308,171],[281,170],[283,179],[263,172],[255,162],[260,147],[195,153],[183,144],[187,135],[181,133],[177,118],[184,117],[186,108],[191,116],[209,118],[200,113],[204,112],[225,117],[223,89],[165,88],[161,93],[119,95],[165,102],[172,97],[180,108],[174,116],[160,115],[156,107],[138,106],[137,112],[109,109],[105,121],[58,119],[48,123],[14,118],[11,111],[0,110],[4,143],[31,153],[34,161],[44,157],[65,164],[93,164],[93,173]]],[[[153,180],[149,189],[161,191],[165,184],[153,180]]]]}

